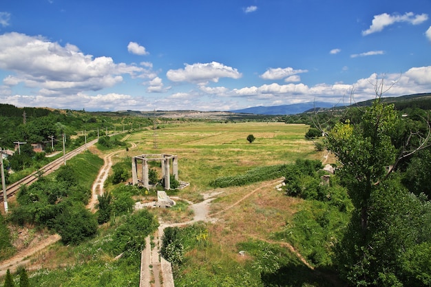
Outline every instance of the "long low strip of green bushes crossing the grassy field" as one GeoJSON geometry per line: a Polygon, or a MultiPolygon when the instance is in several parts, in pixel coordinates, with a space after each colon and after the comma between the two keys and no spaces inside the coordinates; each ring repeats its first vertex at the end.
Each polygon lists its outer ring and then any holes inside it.
{"type": "Polygon", "coordinates": [[[240,176],[223,176],[209,182],[211,187],[235,187],[253,182],[262,182],[281,178],[286,174],[286,164],[277,164],[251,169],[240,176]]]}

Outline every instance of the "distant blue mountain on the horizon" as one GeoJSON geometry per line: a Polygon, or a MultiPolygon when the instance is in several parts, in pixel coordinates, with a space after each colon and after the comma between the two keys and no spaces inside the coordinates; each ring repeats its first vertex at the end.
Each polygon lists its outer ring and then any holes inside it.
{"type": "MultiPolygon", "coordinates": [[[[292,105],[275,105],[270,107],[247,107],[246,109],[235,109],[231,111],[233,113],[239,114],[261,114],[261,115],[291,115],[291,114],[301,114],[304,111],[313,110],[317,108],[328,108],[333,107],[334,103],[324,103],[324,102],[309,102],[309,103],[299,103],[292,105]]],[[[339,106],[339,105],[338,105],[339,106]]]]}

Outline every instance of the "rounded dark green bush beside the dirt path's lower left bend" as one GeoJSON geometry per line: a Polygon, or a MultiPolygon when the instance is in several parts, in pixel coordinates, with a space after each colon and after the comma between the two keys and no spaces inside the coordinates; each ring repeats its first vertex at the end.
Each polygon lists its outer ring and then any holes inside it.
{"type": "Polygon", "coordinates": [[[96,216],[83,204],[67,206],[54,220],[54,229],[61,235],[61,241],[65,244],[83,242],[96,234],[97,227],[96,216]]]}

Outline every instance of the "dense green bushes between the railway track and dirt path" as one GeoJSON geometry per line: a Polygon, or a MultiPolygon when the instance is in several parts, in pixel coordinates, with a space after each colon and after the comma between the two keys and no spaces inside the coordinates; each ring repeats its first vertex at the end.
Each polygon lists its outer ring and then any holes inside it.
{"type": "Polygon", "coordinates": [[[30,187],[21,187],[18,205],[12,207],[9,220],[48,227],[58,232],[66,244],[78,244],[91,237],[97,231],[97,221],[85,204],[91,195],[90,180],[96,177],[102,163],[98,156],[83,153],[61,167],[55,177],[42,177],[30,187]]]}

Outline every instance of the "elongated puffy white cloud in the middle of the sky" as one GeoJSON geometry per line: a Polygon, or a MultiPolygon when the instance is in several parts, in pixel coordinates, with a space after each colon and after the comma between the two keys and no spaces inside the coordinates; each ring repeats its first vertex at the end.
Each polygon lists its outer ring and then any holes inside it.
{"type": "Polygon", "coordinates": [[[206,84],[217,83],[220,78],[241,78],[237,69],[217,62],[185,64],[184,69],[169,70],[167,78],[174,82],[206,84]]]}

